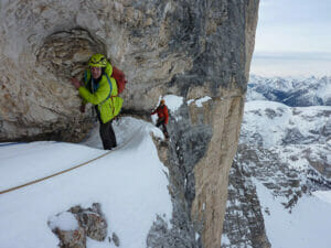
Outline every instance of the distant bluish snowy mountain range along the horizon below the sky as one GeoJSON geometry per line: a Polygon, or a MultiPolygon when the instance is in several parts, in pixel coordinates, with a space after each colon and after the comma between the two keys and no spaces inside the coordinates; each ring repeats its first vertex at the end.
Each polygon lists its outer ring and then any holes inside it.
{"type": "Polygon", "coordinates": [[[331,106],[331,77],[249,77],[247,101],[271,100],[291,107],[331,106]]]}

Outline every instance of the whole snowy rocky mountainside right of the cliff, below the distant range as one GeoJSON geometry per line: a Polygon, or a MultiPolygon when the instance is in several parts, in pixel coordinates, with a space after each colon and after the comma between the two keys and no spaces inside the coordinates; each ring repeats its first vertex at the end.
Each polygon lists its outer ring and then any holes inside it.
{"type": "MultiPolygon", "coordinates": [[[[288,83],[274,88],[290,90],[288,83]]],[[[246,103],[229,174],[223,248],[330,247],[330,106],[246,103]]]]}

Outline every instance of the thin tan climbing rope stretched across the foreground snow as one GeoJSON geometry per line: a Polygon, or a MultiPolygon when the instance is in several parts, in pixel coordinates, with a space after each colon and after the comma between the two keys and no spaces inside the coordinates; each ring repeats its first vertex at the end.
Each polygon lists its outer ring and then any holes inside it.
{"type": "Polygon", "coordinates": [[[131,137],[127,142],[125,142],[122,145],[117,147],[117,148],[115,148],[115,149],[113,149],[113,150],[110,150],[110,151],[107,151],[107,152],[105,152],[104,154],[102,154],[102,155],[99,155],[99,157],[97,157],[97,158],[94,158],[94,159],[92,159],[92,160],[88,160],[88,161],[86,161],[86,162],[84,162],[84,163],[81,163],[81,164],[78,164],[78,165],[76,165],[76,166],[73,166],[73,168],[70,168],[70,169],[66,169],[66,170],[56,172],[56,173],[54,173],[54,174],[51,174],[51,175],[47,175],[47,176],[45,176],[45,177],[42,177],[42,179],[38,179],[38,180],[34,180],[34,181],[31,181],[31,182],[29,182],[29,183],[25,183],[25,184],[22,184],[22,185],[19,185],[19,186],[14,186],[14,187],[10,187],[10,188],[4,190],[4,191],[0,191],[0,195],[1,195],[1,194],[9,193],[9,192],[12,192],[12,191],[15,191],[15,190],[19,190],[19,188],[22,188],[22,187],[25,187],[25,186],[29,186],[29,185],[32,185],[32,184],[35,184],[35,183],[39,183],[39,182],[42,182],[42,181],[45,181],[45,180],[49,180],[49,179],[52,179],[52,177],[54,177],[54,176],[56,176],[56,175],[64,174],[64,173],[66,173],[66,172],[73,171],[73,170],[75,170],[75,169],[77,169],[77,168],[82,168],[82,166],[84,166],[84,165],[87,165],[87,164],[89,164],[89,163],[92,163],[92,162],[94,162],[94,161],[96,161],[96,160],[99,160],[99,159],[102,159],[102,158],[108,155],[110,152],[114,152],[114,151],[116,151],[116,150],[118,150],[118,149],[120,149],[120,148],[124,148],[124,147],[125,147],[127,143],[129,143],[134,138],[135,138],[135,136],[132,136],[132,137],[131,137]]]}

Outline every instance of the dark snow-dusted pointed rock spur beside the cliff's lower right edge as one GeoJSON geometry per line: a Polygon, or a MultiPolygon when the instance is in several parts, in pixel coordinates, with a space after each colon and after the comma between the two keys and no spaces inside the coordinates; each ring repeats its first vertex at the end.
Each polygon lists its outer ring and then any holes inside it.
{"type": "Polygon", "coordinates": [[[246,171],[235,161],[229,172],[222,248],[271,247],[255,185],[247,177],[246,171]]]}

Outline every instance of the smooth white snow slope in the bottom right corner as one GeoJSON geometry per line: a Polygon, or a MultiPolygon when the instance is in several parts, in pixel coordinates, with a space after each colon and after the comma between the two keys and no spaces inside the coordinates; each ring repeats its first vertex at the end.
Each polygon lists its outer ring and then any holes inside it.
{"type": "Polygon", "coordinates": [[[254,180],[263,209],[266,233],[273,247],[330,248],[331,204],[302,196],[290,214],[260,182],[254,180]],[[323,238],[321,238],[323,237],[323,238]]]}

